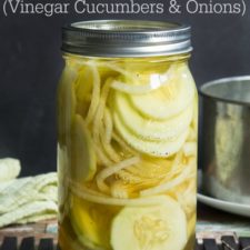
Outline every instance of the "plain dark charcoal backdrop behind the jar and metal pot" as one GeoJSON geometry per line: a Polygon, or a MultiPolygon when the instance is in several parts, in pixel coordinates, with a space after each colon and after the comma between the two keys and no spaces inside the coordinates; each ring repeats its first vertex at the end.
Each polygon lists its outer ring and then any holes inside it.
{"type": "MultiPolygon", "coordinates": [[[[2,2],[0,0],[0,8],[2,2]]],[[[190,64],[200,86],[221,77],[250,74],[249,0],[246,3],[244,17],[170,16],[167,12],[3,17],[0,9],[0,157],[19,158],[22,176],[57,169],[54,107],[57,82],[63,67],[60,46],[64,23],[90,19],[147,19],[191,24],[194,51],[190,64]]]]}

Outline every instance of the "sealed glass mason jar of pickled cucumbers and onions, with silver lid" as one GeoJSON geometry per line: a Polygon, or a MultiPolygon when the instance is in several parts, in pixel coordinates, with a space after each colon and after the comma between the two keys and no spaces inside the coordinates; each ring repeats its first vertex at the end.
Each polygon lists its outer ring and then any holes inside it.
{"type": "Polygon", "coordinates": [[[190,27],[63,29],[58,88],[61,250],[191,250],[198,97],[190,27]]]}

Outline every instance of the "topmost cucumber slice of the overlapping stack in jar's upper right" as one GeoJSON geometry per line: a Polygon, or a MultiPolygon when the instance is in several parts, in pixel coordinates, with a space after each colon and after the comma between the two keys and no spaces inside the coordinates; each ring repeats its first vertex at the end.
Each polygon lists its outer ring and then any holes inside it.
{"type": "Polygon", "coordinates": [[[176,66],[168,84],[146,94],[131,94],[132,104],[151,119],[168,119],[183,111],[194,97],[194,81],[188,66],[176,66]]]}

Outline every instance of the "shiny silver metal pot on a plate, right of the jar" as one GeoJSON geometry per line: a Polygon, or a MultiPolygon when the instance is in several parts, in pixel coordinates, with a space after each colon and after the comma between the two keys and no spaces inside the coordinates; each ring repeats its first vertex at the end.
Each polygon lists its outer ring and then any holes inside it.
{"type": "Polygon", "coordinates": [[[250,204],[250,76],[208,82],[200,94],[202,188],[250,204]]]}

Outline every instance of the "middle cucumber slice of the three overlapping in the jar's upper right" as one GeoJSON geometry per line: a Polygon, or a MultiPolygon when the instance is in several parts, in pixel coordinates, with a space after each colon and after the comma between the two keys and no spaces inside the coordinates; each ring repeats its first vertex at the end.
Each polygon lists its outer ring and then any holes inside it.
{"type": "Polygon", "coordinates": [[[150,120],[143,118],[129,102],[127,94],[116,92],[114,106],[122,122],[138,138],[146,140],[171,140],[188,129],[192,120],[193,104],[169,120],[150,120]],[[132,122],[131,122],[132,121],[132,122]]]}

